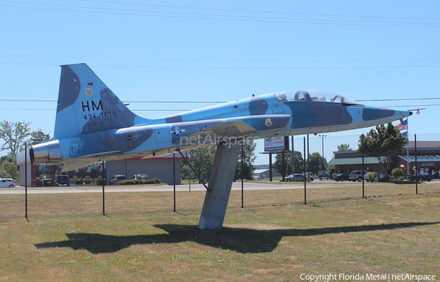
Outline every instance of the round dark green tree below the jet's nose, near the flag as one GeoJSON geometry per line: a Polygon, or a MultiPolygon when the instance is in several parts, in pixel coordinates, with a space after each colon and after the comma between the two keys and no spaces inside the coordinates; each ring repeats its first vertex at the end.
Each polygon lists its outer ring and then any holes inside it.
{"type": "MultiPolygon", "coordinates": [[[[362,152],[362,136],[359,136],[357,152],[362,152]]],[[[408,144],[408,138],[403,137],[402,133],[391,123],[376,126],[376,130],[371,129],[364,137],[364,153],[374,156],[388,171],[390,159],[402,152],[403,147],[408,144]]]]}

